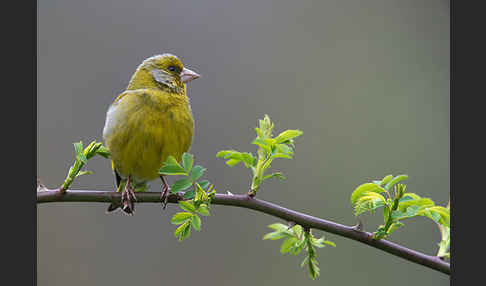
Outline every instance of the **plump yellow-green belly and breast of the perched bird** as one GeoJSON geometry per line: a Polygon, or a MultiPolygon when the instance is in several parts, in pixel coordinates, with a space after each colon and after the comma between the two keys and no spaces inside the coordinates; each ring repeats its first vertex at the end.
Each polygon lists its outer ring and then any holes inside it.
{"type": "Polygon", "coordinates": [[[169,155],[180,161],[189,150],[194,128],[192,114],[186,109],[160,112],[150,108],[123,111],[124,108],[119,106],[119,110],[109,112],[103,132],[114,167],[122,177],[153,180],[169,155]]]}

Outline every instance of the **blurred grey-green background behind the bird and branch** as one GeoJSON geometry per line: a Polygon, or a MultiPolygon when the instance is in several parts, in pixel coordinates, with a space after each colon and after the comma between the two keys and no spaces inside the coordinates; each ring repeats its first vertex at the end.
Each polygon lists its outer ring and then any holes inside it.
{"type": "MultiPolygon", "coordinates": [[[[259,197],[353,225],[349,197],[361,183],[409,174],[408,190],[449,198],[449,1],[39,1],[37,172],[59,186],[72,143],[102,139],[105,114],[141,61],[171,52],[202,77],[188,87],[196,121],[191,153],[218,192],[245,193],[250,176],[219,150],[255,151],[258,119],[275,133],[301,129],[287,180],[259,197]]],[[[110,191],[108,160],[73,189],[110,191]]],[[[160,182],[152,184],[160,190],[160,182]]],[[[177,211],[137,206],[133,217],[96,203],[37,207],[38,285],[449,285],[449,277],[332,234],[312,281],[262,241],[279,221],[214,206],[203,230],[180,243],[177,211]]],[[[381,219],[363,216],[365,230],[381,219]]],[[[323,233],[315,231],[317,235],[323,233]]],[[[390,240],[435,254],[431,220],[406,221],[390,240]]]]}

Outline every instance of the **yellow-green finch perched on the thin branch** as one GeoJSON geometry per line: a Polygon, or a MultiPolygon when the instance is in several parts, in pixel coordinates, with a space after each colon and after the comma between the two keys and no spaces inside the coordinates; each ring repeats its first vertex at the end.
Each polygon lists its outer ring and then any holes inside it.
{"type": "Polygon", "coordinates": [[[157,178],[166,207],[170,187],[158,170],[169,156],[180,162],[192,145],[194,118],[186,84],[199,77],[173,54],[154,55],[138,66],[126,90],[109,106],[103,140],[121,201],[112,202],[107,212],[120,208],[133,215],[135,192],[157,178]]]}

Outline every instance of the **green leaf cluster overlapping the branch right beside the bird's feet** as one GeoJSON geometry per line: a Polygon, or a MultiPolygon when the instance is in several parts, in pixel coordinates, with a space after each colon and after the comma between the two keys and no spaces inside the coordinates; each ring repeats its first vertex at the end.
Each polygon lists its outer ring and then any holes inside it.
{"type": "Polygon", "coordinates": [[[179,225],[174,232],[179,241],[189,237],[191,226],[196,231],[201,230],[201,218],[198,214],[209,216],[211,199],[216,194],[216,190],[208,180],[198,181],[205,170],[201,165],[194,166],[194,156],[189,153],[182,155],[182,166],[173,156],[169,156],[159,169],[159,174],[164,176],[184,176],[170,187],[173,194],[185,191],[182,195],[184,200],[179,201],[179,207],[185,212],[176,213],[171,219],[172,224],[179,225]]]}

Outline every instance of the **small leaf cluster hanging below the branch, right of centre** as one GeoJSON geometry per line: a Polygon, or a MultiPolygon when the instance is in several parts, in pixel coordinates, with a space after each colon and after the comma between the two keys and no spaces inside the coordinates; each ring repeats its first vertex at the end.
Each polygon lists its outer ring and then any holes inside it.
{"type": "Polygon", "coordinates": [[[282,223],[274,223],[268,227],[275,231],[267,233],[263,236],[263,239],[277,240],[284,238],[280,246],[280,253],[282,254],[290,253],[291,255],[297,255],[304,250],[306,256],[300,266],[304,267],[308,265],[309,276],[312,279],[317,279],[320,275],[320,269],[315,248],[322,248],[326,245],[336,247],[336,244],[332,241],[325,240],[324,236],[316,239],[310,229],[307,231],[303,230],[300,225],[289,227],[282,223]]]}

